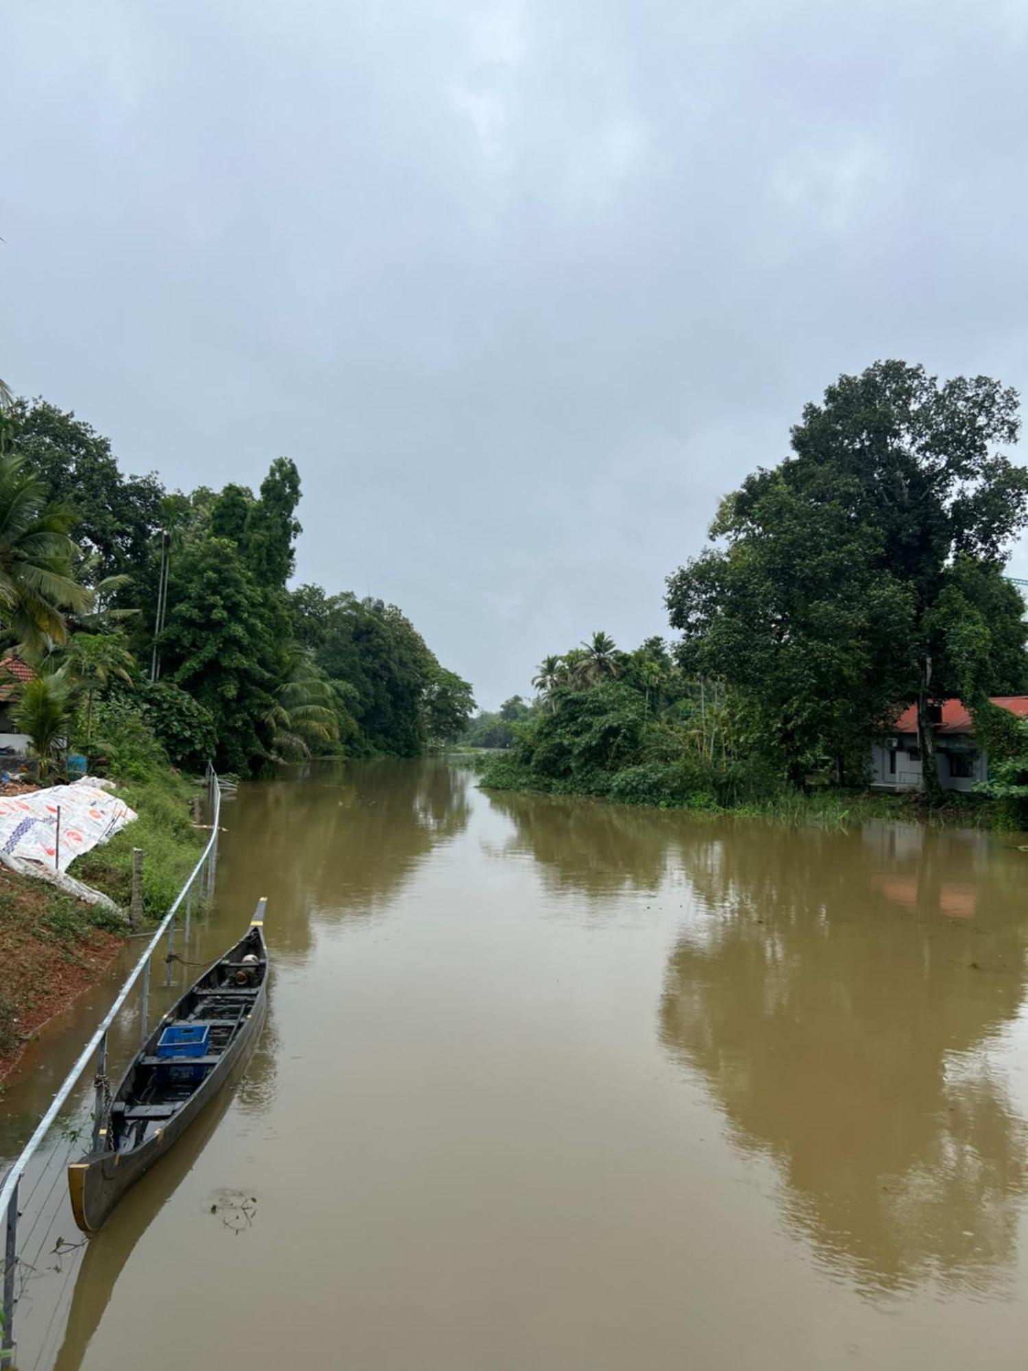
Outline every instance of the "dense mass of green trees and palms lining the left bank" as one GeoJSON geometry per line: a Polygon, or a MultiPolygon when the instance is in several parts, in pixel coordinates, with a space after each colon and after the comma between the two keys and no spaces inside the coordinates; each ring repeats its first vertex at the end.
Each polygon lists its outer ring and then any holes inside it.
{"type": "Polygon", "coordinates": [[[256,494],[167,492],[74,414],[0,396],[0,633],[40,672],[22,716],[45,765],[66,738],[111,760],[130,733],[136,773],[251,775],[459,736],[472,687],[396,606],[288,590],[299,502],[288,458],[256,494]]]}

